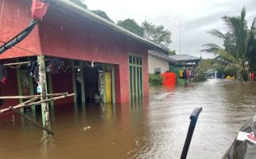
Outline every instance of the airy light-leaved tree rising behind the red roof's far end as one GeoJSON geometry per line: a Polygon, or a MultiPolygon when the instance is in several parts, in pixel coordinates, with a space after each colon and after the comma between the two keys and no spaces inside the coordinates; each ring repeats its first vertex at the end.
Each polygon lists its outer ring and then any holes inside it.
{"type": "Polygon", "coordinates": [[[144,38],[146,40],[152,41],[154,44],[169,50],[169,45],[172,43],[172,33],[168,29],[166,29],[163,25],[153,25],[148,21],[144,21],[142,23],[142,28],[144,38]]]}

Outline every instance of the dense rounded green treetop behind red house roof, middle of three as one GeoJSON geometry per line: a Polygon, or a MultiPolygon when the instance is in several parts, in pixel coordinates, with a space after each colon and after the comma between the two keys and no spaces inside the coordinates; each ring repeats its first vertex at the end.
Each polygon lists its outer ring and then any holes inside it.
{"type": "Polygon", "coordinates": [[[140,25],[138,25],[138,23],[134,21],[134,19],[126,19],[124,21],[118,21],[117,25],[122,28],[125,28],[130,32],[134,32],[134,34],[137,34],[138,36],[143,37],[143,28],[140,25]]]}

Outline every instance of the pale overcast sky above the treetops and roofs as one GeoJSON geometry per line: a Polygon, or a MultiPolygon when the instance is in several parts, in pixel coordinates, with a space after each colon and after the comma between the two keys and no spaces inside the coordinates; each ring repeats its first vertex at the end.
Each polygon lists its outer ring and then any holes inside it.
{"type": "Polygon", "coordinates": [[[177,54],[188,54],[203,58],[211,57],[200,53],[203,44],[222,44],[207,32],[218,28],[225,32],[221,17],[237,16],[246,7],[246,20],[251,24],[256,17],[256,0],[83,0],[89,9],[102,9],[115,22],[127,18],[139,25],[150,21],[164,25],[172,32],[171,49],[177,54]],[[180,34],[179,34],[180,21],[180,34]],[[180,38],[181,37],[181,38],[180,38]],[[180,47],[181,46],[181,47],[180,47]],[[181,51],[179,51],[181,50],[181,51]]]}

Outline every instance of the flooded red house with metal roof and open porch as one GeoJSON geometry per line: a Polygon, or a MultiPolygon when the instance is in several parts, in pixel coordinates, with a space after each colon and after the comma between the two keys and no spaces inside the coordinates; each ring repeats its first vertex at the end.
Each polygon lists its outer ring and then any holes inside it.
{"type": "MultiPolygon", "coordinates": [[[[66,0],[49,0],[45,17],[19,44],[0,55],[0,63],[25,62],[45,55],[45,65],[59,62],[47,74],[48,93],[76,93],[55,104],[86,102],[123,103],[149,93],[148,51],[165,51],[66,0]]],[[[0,4],[0,40],[4,44],[32,20],[31,2],[8,0],[0,4]]],[[[0,44],[0,45],[2,45],[0,44]]],[[[37,82],[27,65],[6,66],[6,84],[0,96],[37,93],[37,82]],[[14,68],[15,67],[15,68],[14,68]]],[[[18,104],[6,100],[3,107],[18,104]]]]}

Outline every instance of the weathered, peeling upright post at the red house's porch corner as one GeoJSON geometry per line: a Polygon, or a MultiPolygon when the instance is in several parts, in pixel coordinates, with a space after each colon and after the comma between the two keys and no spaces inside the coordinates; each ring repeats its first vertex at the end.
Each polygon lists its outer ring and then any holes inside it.
{"type": "MultiPolygon", "coordinates": [[[[41,100],[47,99],[47,82],[46,82],[46,74],[45,74],[45,56],[38,55],[37,60],[39,61],[39,82],[38,85],[41,85],[41,100]]],[[[50,113],[48,109],[48,103],[41,103],[41,111],[42,111],[42,121],[43,126],[50,128],[50,113]]]]}

